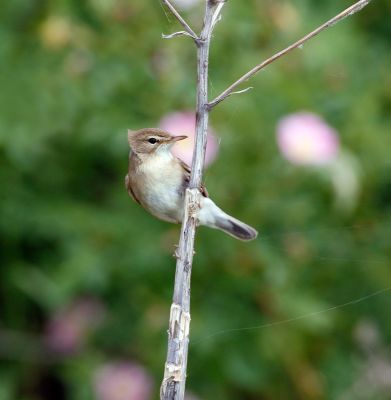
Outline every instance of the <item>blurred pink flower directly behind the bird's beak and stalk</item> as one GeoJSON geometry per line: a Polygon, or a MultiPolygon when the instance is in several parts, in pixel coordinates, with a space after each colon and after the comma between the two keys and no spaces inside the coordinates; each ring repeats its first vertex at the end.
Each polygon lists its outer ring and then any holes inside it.
{"type": "MultiPolygon", "coordinates": [[[[181,140],[172,149],[172,153],[191,166],[195,140],[195,115],[192,112],[175,112],[168,114],[160,121],[160,128],[173,135],[187,135],[186,140],[181,140]]],[[[206,146],[205,166],[216,158],[218,142],[212,130],[208,131],[208,144],[206,146]]]]}

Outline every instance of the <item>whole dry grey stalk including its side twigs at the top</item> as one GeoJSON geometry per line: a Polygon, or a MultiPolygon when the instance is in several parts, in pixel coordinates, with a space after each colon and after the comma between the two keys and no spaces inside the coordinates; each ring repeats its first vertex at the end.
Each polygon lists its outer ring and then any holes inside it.
{"type": "Polygon", "coordinates": [[[187,35],[191,36],[197,44],[197,114],[196,114],[196,141],[193,153],[192,172],[189,189],[186,190],[185,213],[182,223],[179,246],[176,252],[177,263],[175,272],[175,287],[173,303],[171,305],[170,322],[168,329],[168,351],[164,370],[164,379],[161,386],[161,400],[183,400],[185,395],[187,354],[189,346],[190,328],[190,277],[194,254],[194,238],[197,227],[197,212],[199,210],[200,192],[198,188],[202,181],[203,164],[206,150],[206,138],[209,111],[217,104],[232,94],[243,93],[246,90],[235,92],[238,85],[254,76],[266,65],[276,61],[289,51],[300,46],[311,39],[322,30],[341,21],[343,18],[353,15],[365,7],[370,0],[360,0],[333,19],[327,21],[310,34],[300,39],[286,49],[276,53],[263,63],[257,65],[247,72],[228,89],[208,103],[208,65],[209,47],[213,28],[219,20],[225,0],[205,0],[204,25],[200,36],[197,36],[187,22],[180,16],[169,0],[161,0],[176,17],[178,22],[185,28],[185,31],[176,32],[164,36],[167,39],[187,35]]]}

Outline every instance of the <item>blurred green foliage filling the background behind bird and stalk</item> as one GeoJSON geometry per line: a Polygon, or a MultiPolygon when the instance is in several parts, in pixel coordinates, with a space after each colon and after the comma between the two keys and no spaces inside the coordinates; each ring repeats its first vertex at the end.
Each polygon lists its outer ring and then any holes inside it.
{"type": "MultiPolygon", "coordinates": [[[[348,5],[230,0],[214,35],[212,95],[348,5]]],[[[202,7],[184,15],[200,27],[202,7]]],[[[94,370],[115,359],[144,365],[156,398],[179,227],[128,198],[126,130],[194,108],[194,47],[161,40],[178,26],[158,0],[13,0],[0,16],[0,398],[92,399],[94,370]],[[77,353],[41,354],[47,321],[83,296],[100,299],[104,322],[77,353]]],[[[364,398],[349,394],[371,360],[357,327],[370,323],[387,354],[390,292],[236,329],[391,286],[389,21],[390,2],[373,1],[213,112],[221,146],[209,192],[260,236],[198,232],[187,387],[199,398],[364,398]],[[303,109],[357,158],[362,193],[350,213],[334,206],[327,176],[278,152],[278,120],[303,109]]],[[[391,398],[372,384],[366,399],[391,398]]]]}

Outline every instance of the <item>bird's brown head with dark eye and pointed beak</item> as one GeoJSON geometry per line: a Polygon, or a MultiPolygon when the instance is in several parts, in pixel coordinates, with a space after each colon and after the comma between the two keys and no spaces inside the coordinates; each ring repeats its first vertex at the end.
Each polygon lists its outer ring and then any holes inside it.
{"type": "Polygon", "coordinates": [[[128,130],[129,146],[136,154],[153,154],[156,151],[169,150],[175,142],[186,138],[187,136],[173,136],[158,128],[128,130]]]}

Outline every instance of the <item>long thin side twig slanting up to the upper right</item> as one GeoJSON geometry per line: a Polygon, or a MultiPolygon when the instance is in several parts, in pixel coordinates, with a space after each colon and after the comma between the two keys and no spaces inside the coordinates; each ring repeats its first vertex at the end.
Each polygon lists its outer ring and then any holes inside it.
{"type": "MultiPolygon", "coordinates": [[[[269,64],[273,63],[274,61],[278,60],[285,54],[289,53],[290,51],[302,46],[305,42],[308,40],[312,39],[314,36],[318,35],[320,32],[324,31],[327,28],[330,28],[331,26],[335,25],[336,23],[342,21],[346,17],[350,17],[351,15],[355,14],[356,12],[362,10],[365,6],[367,6],[370,3],[371,0],[360,0],[357,3],[353,4],[351,7],[347,8],[345,11],[342,11],[340,14],[336,15],[335,17],[331,18],[327,22],[325,22],[323,25],[319,26],[312,32],[310,32],[308,35],[304,36],[297,42],[291,44],[284,50],[281,50],[280,52],[274,54],[272,57],[268,58],[267,60],[263,61],[261,64],[258,64],[256,67],[254,67],[252,70],[248,71],[246,74],[244,74],[241,78],[239,78],[236,82],[234,82],[231,86],[229,86],[224,92],[222,92],[219,96],[217,96],[214,100],[210,101],[208,104],[208,109],[211,110],[213,107],[215,107],[217,104],[221,103],[224,99],[226,99],[228,96],[234,94],[235,89],[242,84],[243,82],[247,81],[251,77],[253,77],[255,74],[257,74],[259,71],[264,69],[266,66],[269,64]]],[[[237,92],[237,93],[241,93],[237,92]]]]}

